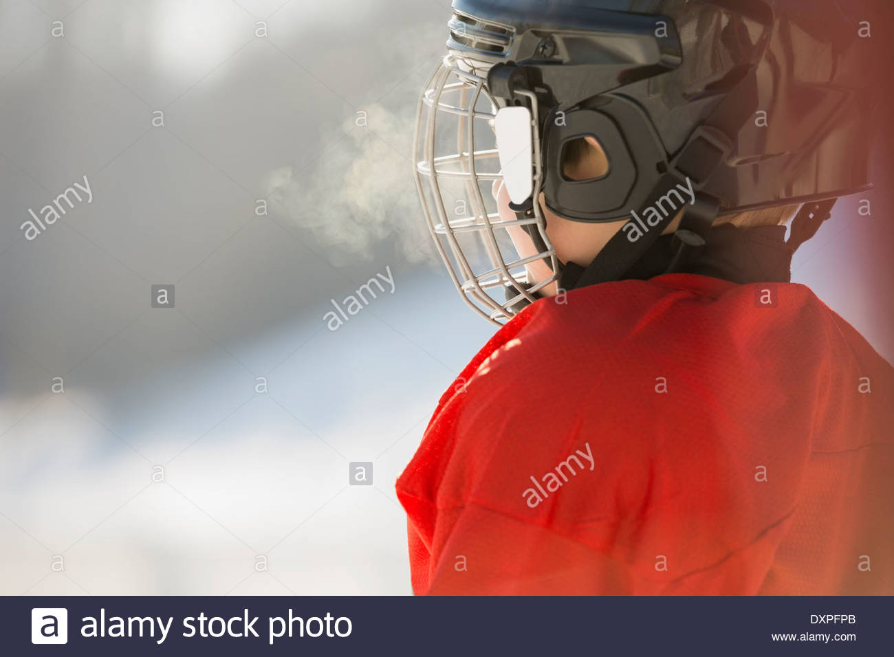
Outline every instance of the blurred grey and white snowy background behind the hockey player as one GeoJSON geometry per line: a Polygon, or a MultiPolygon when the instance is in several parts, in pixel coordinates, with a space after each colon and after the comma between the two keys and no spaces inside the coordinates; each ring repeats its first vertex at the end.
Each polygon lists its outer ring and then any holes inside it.
{"type": "MultiPolygon", "coordinates": [[[[449,6],[0,0],[0,594],[410,593],[393,482],[493,333],[411,178],[449,6]]],[[[890,360],[882,193],[793,268],[890,360]]]]}

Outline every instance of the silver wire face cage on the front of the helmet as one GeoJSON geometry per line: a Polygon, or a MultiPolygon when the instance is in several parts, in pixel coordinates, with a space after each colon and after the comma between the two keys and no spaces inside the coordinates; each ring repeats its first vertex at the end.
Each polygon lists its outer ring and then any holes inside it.
{"type": "Polygon", "coordinates": [[[493,131],[498,108],[485,81],[474,64],[455,55],[435,68],[419,99],[415,175],[426,223],[457,290],[478,314],[504,324],[538,292],[549,291],[559,266],[539,202],[536,102],[533,146],[524,154],[533,161],[534,204],[527,215],[517,215],[502,190],[493,131]]]}

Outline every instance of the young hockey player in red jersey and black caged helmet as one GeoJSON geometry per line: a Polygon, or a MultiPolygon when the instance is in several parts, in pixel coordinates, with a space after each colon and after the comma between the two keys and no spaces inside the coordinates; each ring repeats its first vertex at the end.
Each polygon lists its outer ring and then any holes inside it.
{"type": "Polygon", "coordinates": [[[454,0],[418,189],[505,325],[397,482],[415,593],[894,594],[894,371],[789,282],[870,185],[862,5],[454,0]]]}

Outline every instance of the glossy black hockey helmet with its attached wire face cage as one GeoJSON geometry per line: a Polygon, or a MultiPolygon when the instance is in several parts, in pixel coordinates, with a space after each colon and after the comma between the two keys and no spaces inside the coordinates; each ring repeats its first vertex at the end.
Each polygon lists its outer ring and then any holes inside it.
{"type": "MultiPolygon", "coordinates": [[[[805,204],[796,221],[802,235],[813,234],[815,225],[804,223],[821,222],[834,199],[871,186],[880,58],[861,6],[454,0],[448,55],[420,102],[417,181],[460,291],[501,321],[559,279],[541,193],[556,215],[600,223],[642,216],[687,185],[685,243],[704,243],[718,215],[790,204],[805,204]],[[493,147],[482,122],[496,129],[493,147]],[[565,161],[585,140],[598,143],[607,166],[581,180],[565,161]],[[451,155],[441,155],[446,143],[451,155]],[[514,222],[501,220],[482,191],[510,177],[514,222]],[[466,212],[448,210],[460,199],[466,212]],[[528,232],[536,255],[511,255],[499,234],[510,224],[528,232]],[[537,258],[550,265],[549,281],[526,279],[537,258]],[[498,300],[502,291],[509,299],[498,300]]],[[[655,215],[636,243],[619,232],[579,281],[622,277],[675,214],[655,215]]]]}

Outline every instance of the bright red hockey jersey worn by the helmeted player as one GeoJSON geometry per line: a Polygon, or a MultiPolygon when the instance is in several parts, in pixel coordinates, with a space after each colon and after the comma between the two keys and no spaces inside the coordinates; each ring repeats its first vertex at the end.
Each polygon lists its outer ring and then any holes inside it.
{"type": "Polygon", "coordinates": [[[892,386],[803,285],[667,274],[539,300],[397,482],[413,590],[894,594],[892,386]]]}

